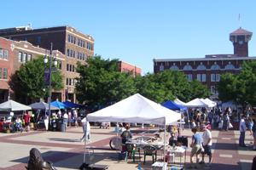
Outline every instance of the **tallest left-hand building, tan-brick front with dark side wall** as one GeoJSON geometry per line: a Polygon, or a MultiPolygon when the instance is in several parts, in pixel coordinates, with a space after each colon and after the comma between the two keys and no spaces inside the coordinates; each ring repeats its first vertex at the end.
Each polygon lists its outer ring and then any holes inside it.
{"type": "Polygon", "coordinates": [[[14,41],[31,42],[38,48],[59,50],[65,55],[61,63],[62,74],[65,78],[65,97],[60,100],[70,99],[76,101],[75,78],[79,77],[76,72],[77,62],[86,63],[86,59],[94,55],[94,39],[90,35],[85,35],[75,30],[71,26],[57,26],[50,28],[32,29],[31,26],[21,26],[0,30],[0,37],[12,39],[14,41]]]}

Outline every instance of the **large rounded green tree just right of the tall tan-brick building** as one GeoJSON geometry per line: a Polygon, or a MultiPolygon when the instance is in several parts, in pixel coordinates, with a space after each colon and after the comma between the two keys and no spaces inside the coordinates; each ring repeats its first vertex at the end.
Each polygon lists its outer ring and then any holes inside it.
{"type": "Polygon", "coordinates": [[[136,93],[130,74],[118,71],[118,59],[87,59],[86,65],[78,64],[76,91],[79,102],[88,105],[109,105],[136,93]]]}

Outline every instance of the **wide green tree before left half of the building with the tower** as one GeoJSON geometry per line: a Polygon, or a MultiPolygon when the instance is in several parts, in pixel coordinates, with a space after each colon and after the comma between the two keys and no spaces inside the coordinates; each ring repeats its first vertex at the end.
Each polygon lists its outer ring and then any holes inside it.
{"type": "Polygon", "coordinates": [[[206,86],[197,81],[189,82],[183,72],[180,71],[166,70],[137,77],[136,86],[139,94],[158,103],[175,98],[189,101],[210,95],[206,86]]]}

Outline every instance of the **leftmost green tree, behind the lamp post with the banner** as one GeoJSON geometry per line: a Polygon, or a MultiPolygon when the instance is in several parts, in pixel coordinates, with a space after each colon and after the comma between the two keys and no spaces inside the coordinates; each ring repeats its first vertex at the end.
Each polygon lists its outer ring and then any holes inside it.
{"type": "MultiPolygon", "coordinates": [[[[9,86],[21,103],[28,104],[44,99],[48,95],[48,88],[44,86],[43,56],[21,65],[20,69],[10,77],[9,86]]],[[[52,88],[55,90],[63,88],[61,72],[58,70],[52,72],[52,88]]]]}

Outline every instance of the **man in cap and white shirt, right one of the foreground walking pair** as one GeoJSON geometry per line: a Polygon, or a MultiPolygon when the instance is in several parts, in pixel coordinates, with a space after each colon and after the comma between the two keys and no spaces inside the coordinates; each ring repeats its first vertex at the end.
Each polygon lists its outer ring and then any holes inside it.
{"type": "Polygon", "coordinates": [[[206,125],[201,126],[202,134],[202,146],[204,151],[201,154],[202,161],[201,163],[205,163],[205,154],[209,156],[209,164],[212,162],[212,133],[207,129],[206,125]]]}

